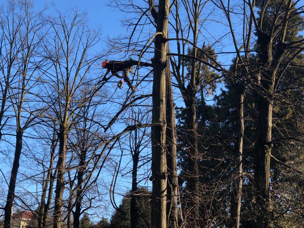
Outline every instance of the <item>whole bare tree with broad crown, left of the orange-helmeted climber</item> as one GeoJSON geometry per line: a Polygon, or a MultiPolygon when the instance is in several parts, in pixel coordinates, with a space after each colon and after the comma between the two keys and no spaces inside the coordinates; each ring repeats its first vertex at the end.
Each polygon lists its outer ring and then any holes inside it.
{"type": "Polygon", "coordinates": [[[50,70],[43,79],[45,94],[41,100],[48,105],[59,129],[59,151],[57,161],[57,181],[55,189],[54,228],[62,227],[65,161],[67,140],[78,113],[90,97],[82,96],[82,87],[88,82],[88,74],[93,64],[100,58],[93,55],[92,47],[99,41],[99,31],[93,31],[86,24],[86,15],[76,11],[48,19],[50,36],[44,41],[45,57],[50,60],[50,70]]]}

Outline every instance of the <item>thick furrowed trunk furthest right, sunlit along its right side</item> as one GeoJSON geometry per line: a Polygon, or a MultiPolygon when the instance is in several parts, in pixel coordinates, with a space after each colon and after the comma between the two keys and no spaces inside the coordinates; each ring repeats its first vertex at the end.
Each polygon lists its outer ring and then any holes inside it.
{"type": "Polygon", "coordinates": [[[273,227],[270,200],[270,157],[272,127],[272,95],[275,84],[277,60],[272,56],[272,38],[258,33],[260,45],[259,61],[261,64],[257,93],[257,140],[254,151],[254,180],[257,224],[261,228],[273,227]]]}

